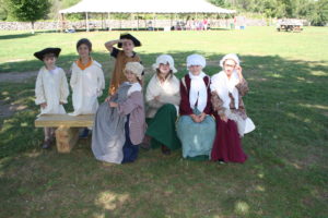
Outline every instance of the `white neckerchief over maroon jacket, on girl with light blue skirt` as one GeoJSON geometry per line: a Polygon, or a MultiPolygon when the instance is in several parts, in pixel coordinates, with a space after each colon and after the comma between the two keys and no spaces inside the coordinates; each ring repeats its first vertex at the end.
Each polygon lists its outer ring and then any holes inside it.
{"type": "Polygon", "coordinates": [[[189,72],[190,77],[190,92],[189,92],[189,102],[190,107],[195,109],[195,105],[197,102],[197,109],[202,112],[207,107],[208,102],[208,90],[207,85],[204,84],[203,77],[206,74],[200,72],[199,75],[192,75],[189,72]]]}

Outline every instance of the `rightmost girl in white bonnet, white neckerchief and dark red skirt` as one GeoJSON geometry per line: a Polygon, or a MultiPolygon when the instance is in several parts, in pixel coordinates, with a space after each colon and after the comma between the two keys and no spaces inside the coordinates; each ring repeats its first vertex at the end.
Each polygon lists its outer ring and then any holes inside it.
{"type": "Polygon", "coordinates": [[[248,84],[236,55],[224,56],[220,65],[223,71],[214,74],[211,80],[212,105],[216,120],[216,136],[211,159],[220,162],[244,162],[247,155],[242,148],[241,138],[255,129],[242,99],[248,92],[248,84]]]}

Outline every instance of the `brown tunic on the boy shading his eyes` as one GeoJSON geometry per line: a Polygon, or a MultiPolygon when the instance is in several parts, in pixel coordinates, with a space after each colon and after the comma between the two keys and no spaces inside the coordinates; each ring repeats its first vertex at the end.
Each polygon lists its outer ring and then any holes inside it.
{"type": "Polygon", "coordinates": [[[110,56],[116,58],[116,61],[112,74],[108,95],[114,95],[117,92],[119,85],[124,82],[127,82],[127,78],[124,74],[127,62],[141,62],[141,59],[136,52],[133,52],[132,57],[127,57],[122,50],[119,50],[117,48],[113,48],[110,56]]]}

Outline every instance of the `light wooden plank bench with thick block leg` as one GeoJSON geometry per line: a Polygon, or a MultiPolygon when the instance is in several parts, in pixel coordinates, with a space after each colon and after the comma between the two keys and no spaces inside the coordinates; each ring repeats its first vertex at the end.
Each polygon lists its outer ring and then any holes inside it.
{"type": "Polygon", "coordinates": [[[70,153],[79,140],[80,128],[92,128],[94,114],[43,114],[34,124],[36,128],[57,128],[56,145],[59,153],[70,153]]]}

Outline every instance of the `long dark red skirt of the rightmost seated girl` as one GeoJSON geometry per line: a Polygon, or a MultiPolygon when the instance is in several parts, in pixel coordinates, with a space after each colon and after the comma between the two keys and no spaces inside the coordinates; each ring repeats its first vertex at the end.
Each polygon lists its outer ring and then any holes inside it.
{"type": "Polygon", "coordinates": [[[211,153],[211,160],[225,162],[244,162],[247,155],[243,152],[238,128],[235,121],[224,122],[219,116],[216,120],[216,135],[211,153]]]}

